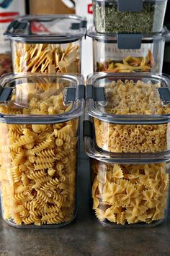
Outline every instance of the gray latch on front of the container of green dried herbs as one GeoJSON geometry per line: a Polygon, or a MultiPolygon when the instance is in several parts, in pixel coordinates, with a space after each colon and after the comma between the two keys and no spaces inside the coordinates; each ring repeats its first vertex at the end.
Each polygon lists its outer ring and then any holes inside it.
{"type": "Polygon", "coordinates": [[[143,0],[117,0],[119,12],[141,12],[143,0]]]}

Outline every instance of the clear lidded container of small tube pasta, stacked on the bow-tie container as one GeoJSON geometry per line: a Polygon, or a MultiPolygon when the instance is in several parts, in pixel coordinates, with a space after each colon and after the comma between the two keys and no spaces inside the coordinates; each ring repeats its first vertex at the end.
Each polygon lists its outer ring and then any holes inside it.
{"type": "Polygon", "coordinates": [[[97,146],[118,154],[148,153],[148,157],[170,153],[169,86],[168,75],[91,75],[86,106],[97,146]]]}

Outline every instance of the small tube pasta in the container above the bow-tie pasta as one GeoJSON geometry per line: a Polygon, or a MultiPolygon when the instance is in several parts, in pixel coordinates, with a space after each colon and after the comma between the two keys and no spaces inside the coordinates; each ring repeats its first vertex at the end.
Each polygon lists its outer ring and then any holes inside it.
{"type": "MultiPolygon", "coordinates": [[[[169,114],[157,88],[161,85],[118,80],[106,85],[107,106],[97,105],[108,114],[169,114]]],[[[169,148],[169,124],[112,124],[94,119],[97,145],[115,153],[155,153],[169,148]]]]}

